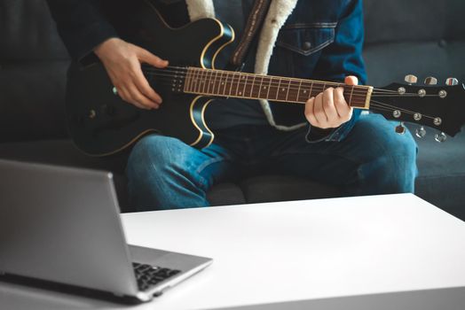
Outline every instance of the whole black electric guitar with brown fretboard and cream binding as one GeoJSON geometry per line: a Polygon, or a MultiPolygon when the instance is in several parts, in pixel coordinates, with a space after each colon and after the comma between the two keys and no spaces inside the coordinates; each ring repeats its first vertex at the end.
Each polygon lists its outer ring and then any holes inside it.
{"type": "MultiPolygon", "coordinates": [[[[354,108],[379,112],[390,120],[438,129],[437,141],[445,134],[456,135],[465,123],[465,87],[456,79],[437,86],[428,78],[424,86],[392,83],[375,89],[329,81],[245,74],[217,70],[215,59],[233,42],[233,28],[217,19],[200,19],[185,27],[171,28],[149,2],[137,12],[114,22],[122,39],[137,44],[173,64],[165,69],[142,66],[147,80],[163,97],[157,110],[141,110],[116,96],[100,63],[70,66],[67,81],[67,126],[75,145],[91,156],[106,156],[129,147],[140,137],[160,133],[177,137],[196,148],[213,142],[214,134],[204,112],[216,97],[267,99],[272,102],[304,104],[328,87],[342,86],[346,101],[354,108]]],[[[398,133],[405,128],[398,126],[398,133]]]]}

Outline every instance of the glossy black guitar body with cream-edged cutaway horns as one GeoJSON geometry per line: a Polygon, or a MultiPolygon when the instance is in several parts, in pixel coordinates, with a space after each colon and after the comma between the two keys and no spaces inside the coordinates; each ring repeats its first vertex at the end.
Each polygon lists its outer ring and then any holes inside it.
{"type": "MultiPolygon", "coordinates": [[[[168,59],[169,66],[214,68],[217,52],[233,41],[233,29],[217,19],[201,19],[174,29],[149,3],[141,1],[135,10],[114,22],[118,34],[123,40],[168,59]]],[[[114,95],[112,82],[100,63],[70,67],[67,124],[81,151],[92,156],[110,155],[154,132],[176,137],[196,148],[213,141],[203,119],[212,97],[177,92],[173,78],[155,78],[151,74],[146,77],[163,98],[158,110],[141,110],[114,95]]]]}

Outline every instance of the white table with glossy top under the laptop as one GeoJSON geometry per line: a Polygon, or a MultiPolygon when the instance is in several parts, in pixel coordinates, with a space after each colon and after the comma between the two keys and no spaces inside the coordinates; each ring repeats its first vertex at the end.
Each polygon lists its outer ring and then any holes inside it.
{"type": "MultiPolygon", "coordinates": [[[[411,194],[128,213],[122,222],[130,244],[214,259],[135,309],[465,309],[465,222],[411,194]]],[[[127,306],[0,283],[0,308],[127,306]]]]}

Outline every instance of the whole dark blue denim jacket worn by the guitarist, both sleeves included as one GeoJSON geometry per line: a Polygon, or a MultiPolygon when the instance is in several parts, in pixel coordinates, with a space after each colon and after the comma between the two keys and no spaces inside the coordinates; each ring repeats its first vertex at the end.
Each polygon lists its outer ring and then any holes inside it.
{"type": "MultiPolygon", "coordinates": [[[[99,43],[117,36],[102,10],[118,10],[134,0],[47,1],[67,50],[72,58],[82,60],[99,43]]],[[[188,22],[184,0],[152,2],[163,16],[171,19],[172,25],[188,22]]],[[[280,28],[268,73],[323,81],[343,81],[345,76],[355,75],[363,84],[363,37],[362,0],[300,0],[280,28]]],[[[302,105],[271,104],[271,109],[277,125],[308,124],[302,105]]],[[[359,110],[354,110],[350,121],[329,133],[308,125],[307,140],[339,141],[350,132],[359,114],[359,110]]]]}

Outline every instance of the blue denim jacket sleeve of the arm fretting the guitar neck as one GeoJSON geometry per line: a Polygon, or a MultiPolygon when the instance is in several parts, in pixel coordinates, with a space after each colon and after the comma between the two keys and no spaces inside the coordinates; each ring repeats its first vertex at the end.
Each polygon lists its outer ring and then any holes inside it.
{"type": "MultiPolygon", "coordinates": [[[[366,83],[365,64],[362,58],[364,40],[363,6],[361,0],[351,0],[335,28],[335,41],[322,51],[313,72],[313,78],[324,81],[343,81],[347,75],[355,75],[360,84],[366,83]]],[[[341,141],[349,134],[359,119],[360,110],[354,109],[351,120],[332,130],[311,128],[307,142],[341,141]]]]}

